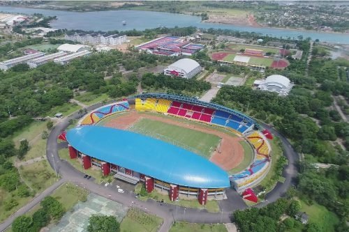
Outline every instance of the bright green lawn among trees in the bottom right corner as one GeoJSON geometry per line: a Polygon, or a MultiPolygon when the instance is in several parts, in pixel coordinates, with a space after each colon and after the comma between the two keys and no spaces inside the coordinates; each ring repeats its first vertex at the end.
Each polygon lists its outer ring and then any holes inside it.
{"type": "Polygon", "coordinates": [[[339,218],[334,212],[330,212],[325,206],[320,206],[318,203],[313,203],[309,206],[304,201],[300,201],[301,211],[309,215],[309,222],[318,224],[321,231],[335,231],[334,227],[339,223],[339,218]]]}

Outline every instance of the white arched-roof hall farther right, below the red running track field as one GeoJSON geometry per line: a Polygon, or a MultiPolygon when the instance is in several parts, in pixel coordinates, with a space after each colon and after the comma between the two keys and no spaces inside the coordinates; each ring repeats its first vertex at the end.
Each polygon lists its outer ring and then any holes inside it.
{"type": "MultiPolygon", "coordinates": [[[[257,85],[257,83],[254,83],[257,85]]],[[[279,95],[285,96],[290,93],[293,83],[290,82],[290,79],[283,77],[281,75],[271,75],[267,77],[264,81],[258,83],[258,88],[262,91],[270,91],[279,93],[279,95]]]]}

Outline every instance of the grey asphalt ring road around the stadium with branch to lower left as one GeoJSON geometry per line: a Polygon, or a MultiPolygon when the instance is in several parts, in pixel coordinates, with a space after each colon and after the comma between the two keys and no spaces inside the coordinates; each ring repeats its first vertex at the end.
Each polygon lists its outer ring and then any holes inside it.
{"type": "MultiPolygon", "coordinates": [[[[107,103],[112,103],[115,101],[110,101],[107,103]]],[[[87,107],[87,111],[96,109],[105,105],[107,103],[99,103],[90,107],[87,107]]],[[[67,118],[62,119],[60,123],[54,126],[53,130],[50,132],[50,136],[47,139],[47,148],[46,156],[48,162],[52,169],[55,169],[57,173],[61,176],[61,179],[54,183],[47,190],[36,196],[32,201],[30,201],[26,206],[15,212],[12,216],[8,217],[5,222],[0,224],[0,231],[5,230],[10,224],[12,224],[15,217],[23,215],[25,212],[28,212],[33,208],[37,203],[39,203],[45,196],[50,195],[57,187],[61,184],[68,181],[80,185],[81,187],[86,188],[90,192],[106,197],[113,201],[124,204],[125,206],[133,206],[144,210],[153,215],[163,218],[163,224],[159,231],[165,232],[170,229],[172,222],[181,220],[186,222],[196,222],[196,223],[228,223],[232,222],[231,213],[238,209],[247,208],[244,202],[242,201],[241,196],[235,192],[235,190],[227,190],[226,194],[228,199],[219,201],[219,206],[221,207],[221,212],[207,212],[207,210],[199,210],[194,208],[184,208],[180,206],[174,206],[171,204],[157,203],[153,200],[148,201],[139,201],[135,199],[134,194],[124,193],[121,194],[114,189],[114,187],[104,187],[94,183],[94,181],[87,180],[84,178],[84,174],[80,171],[77,171],[65,160],[60,160],[58,156],[58,144],[57,137],[63,130],[66,130],[66,127],[69,125],[70,119],[80,118],[81,115],[78,112],[71,114],[67,118]]],[[[284,155],[288,159],[288,166],[283,170],[283,177],[285,178],[284,183],[278,183],[272,192],[269,192],[265,196],[265,201],[259,203],[255,207],[266,206],[268,203],[272,203],[282,197],[288,188],[294,184],[295,177],[297,176],[297,167],[296,162],[298,160],[298,155],[295,150],[292,148],[290,142],[283,137],[282,134],[274,130],[274,128],[269,127],[269,125],[262,125],[267,128],[274,135],[279,137],[283,143],[284,155]]]]}

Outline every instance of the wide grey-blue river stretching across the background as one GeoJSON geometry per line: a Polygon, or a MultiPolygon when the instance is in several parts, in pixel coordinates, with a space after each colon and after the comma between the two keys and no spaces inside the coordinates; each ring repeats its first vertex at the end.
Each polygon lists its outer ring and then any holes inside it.
{"type": "Polygon", "coordinates": [[[204,29],[214,28],[249,32],[254,31],[278,38],[281,36],[283,38],[297,38],[297,36],[303,36],[303,38],[310,37],[313,40],[319,39],[320,41],[325,42],[349,44],[349,34],[214,24],[200,22],[201,17],[192,15],[179,15],[173,13],[150,12],[141,10],[108,10],[80,13],[64,10],[45,10],[7,6],[0,6],[0,11],[29,15],[34,13],[41,13],[47,16],[56,15],[58,17],[58,20],[52,21],[51,23],[51,26],[54,29],[82,29],[84,31],[126,31],[132,29],[151,29],[158,26],[196,26],[198,28],[204,29]],[[122,24],[124,20],[127,22],[125,26],[123,26],[122,24]]]}

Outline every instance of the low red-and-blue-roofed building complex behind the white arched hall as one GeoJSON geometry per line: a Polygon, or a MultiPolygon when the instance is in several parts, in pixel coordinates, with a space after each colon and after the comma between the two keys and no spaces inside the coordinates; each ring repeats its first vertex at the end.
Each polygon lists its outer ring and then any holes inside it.
{"type": "Polygon", "coordinates": [[[145,42],[142,45],[138,45],[136,48],[140,49],[141,51],[147,51],[151,54],[163,56],[191,56],[204,47],[204,45],[192,44],[185,38],[180,38],[177,36],[164,36],[149,42],[145,42]]]}

